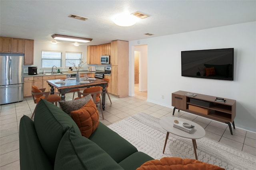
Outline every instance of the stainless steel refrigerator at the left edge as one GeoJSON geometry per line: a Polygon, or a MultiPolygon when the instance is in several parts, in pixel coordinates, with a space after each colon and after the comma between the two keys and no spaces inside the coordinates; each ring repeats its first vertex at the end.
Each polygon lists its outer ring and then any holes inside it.
{"type": "Polygon", "coordinates": [[[24,54],[0,53],[0,104],[23,100],[24,54]]]}

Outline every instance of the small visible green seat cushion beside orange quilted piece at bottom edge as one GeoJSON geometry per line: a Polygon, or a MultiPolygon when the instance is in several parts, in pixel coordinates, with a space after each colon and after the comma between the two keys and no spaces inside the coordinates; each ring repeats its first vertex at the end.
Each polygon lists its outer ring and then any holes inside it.
{"type": "Polygon", "coordinates": [[[125,170],[136,170],[142,164],[149,160],[154,160],[154,158],[148,156],[143,152],[135,152],[134,154],[128,156],[118,164],[122,166],[125,170]]]}

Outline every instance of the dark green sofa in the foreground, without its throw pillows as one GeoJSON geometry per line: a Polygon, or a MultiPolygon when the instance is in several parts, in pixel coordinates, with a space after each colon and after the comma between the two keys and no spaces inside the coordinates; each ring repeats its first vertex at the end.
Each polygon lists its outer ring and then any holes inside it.
{"type": "Polygon", "coordinates": [[[59,107],[40,100],[20,119],[21,170],[135,170],[152,157],[99,123],[86,138],[59,107]]]}

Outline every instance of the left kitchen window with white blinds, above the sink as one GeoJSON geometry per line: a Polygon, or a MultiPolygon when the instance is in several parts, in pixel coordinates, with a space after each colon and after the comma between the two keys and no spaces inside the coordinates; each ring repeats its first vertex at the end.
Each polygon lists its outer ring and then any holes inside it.
{"type": "Polygon", "coordinates": [[[62,52],[42,51],[42,68],[52,68],[52,66],[62,66],[62,52]]]}

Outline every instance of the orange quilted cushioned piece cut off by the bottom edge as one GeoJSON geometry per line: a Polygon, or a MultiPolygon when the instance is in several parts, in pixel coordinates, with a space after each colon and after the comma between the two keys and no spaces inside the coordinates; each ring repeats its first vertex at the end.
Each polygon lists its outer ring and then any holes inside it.
{"type": "Polygon", "coordinates": [[[164,157],[160,160],[150,160],[136,170],[225,170],[219,166],[201,162],[195,159],[164,157]]]}

